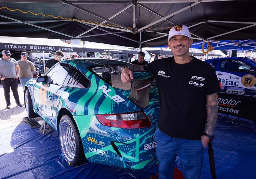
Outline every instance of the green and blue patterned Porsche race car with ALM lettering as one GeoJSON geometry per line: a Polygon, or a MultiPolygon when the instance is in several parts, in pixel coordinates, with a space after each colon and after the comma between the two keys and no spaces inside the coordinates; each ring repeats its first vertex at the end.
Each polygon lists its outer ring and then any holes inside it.
{"type": "Polygon", "coordinates": [[[137,86],[152,74],[135,72],[133,86],[118,88],[126,85],[119,75],[127,65],[109,59],[63,60],[26,83],[28,117],[39,115],[56,130],[69,165],[87,160],[141,169],[157,164],[157,87],[154,81],[137,86]]]}

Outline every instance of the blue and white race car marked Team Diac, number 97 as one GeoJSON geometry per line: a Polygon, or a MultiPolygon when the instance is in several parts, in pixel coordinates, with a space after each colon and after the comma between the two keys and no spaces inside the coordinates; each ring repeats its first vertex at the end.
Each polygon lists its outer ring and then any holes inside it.
{"type": "Polygon", "coordinates": [[[256,93],[256,61],[245,57],[205,60],[216,70],[223,91],[256,93]]]}

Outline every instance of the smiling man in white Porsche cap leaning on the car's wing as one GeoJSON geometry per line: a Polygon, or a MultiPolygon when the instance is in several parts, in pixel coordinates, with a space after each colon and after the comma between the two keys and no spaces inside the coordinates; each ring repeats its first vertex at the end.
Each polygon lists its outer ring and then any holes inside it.
{"type": "Polygon", "coordinates": [[[155,77],[160,102],[154,135],[159,179],[172,178],[176,155],[184,178],[199,179],[204,149],[218,117],[219,82],[208,63],[189,55],[192,39],[187,26],[172,27],[167,44],[173,57],[124,67],[121,80],[130,83],[132,71],[149,71],[155,77]]]}

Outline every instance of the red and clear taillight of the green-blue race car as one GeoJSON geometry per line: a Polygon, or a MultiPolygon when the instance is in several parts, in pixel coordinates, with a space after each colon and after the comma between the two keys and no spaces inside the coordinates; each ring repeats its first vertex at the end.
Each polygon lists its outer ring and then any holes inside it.
{"type": "Polygon", "coordinates": [[[142,112],[96,115],[101,124],[120,128],[141,128],[151,126],[149,118],[142,112]]]}

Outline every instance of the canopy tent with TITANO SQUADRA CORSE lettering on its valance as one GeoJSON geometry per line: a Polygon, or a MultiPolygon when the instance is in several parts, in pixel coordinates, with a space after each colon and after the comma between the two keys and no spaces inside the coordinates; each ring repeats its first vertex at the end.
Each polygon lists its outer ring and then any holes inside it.
{"type": "Polygon", "coordinates": [[[3,37],[0,36],[0,49],[24,51],[49,51],[55,52],[85,52],[84,48],[71,47],[70,44],[57,39],[3,37]]]}

